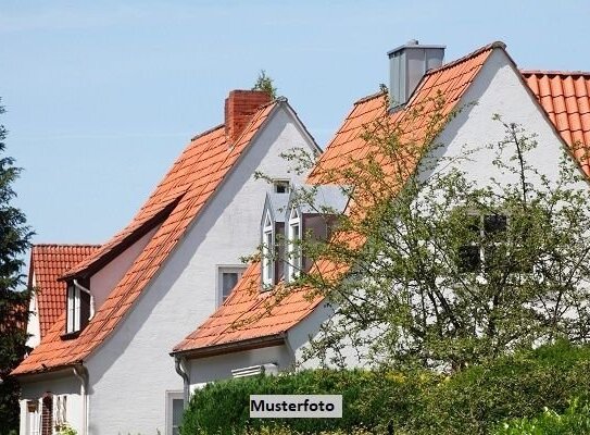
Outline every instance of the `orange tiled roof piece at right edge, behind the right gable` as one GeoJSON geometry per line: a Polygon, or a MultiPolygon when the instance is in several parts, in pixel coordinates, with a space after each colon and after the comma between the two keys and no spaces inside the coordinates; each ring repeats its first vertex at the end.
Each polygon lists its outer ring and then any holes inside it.
{"type": "Polygon", "coordinates": [[[525,82],[590,176],[590,73],[522,71],[525,82]]]}

